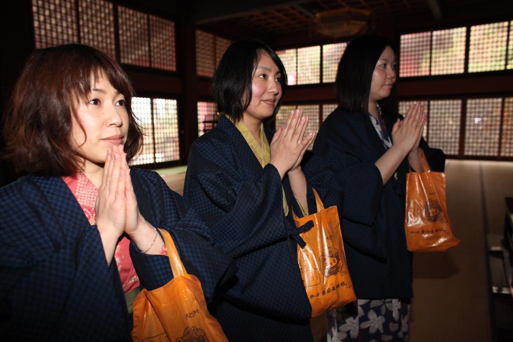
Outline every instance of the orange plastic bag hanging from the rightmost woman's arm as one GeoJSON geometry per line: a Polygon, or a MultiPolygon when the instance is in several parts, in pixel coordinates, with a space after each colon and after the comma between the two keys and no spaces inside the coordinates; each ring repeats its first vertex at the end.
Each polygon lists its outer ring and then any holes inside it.
{"type": "Polygon", "coordinates": [[[411,252],[444,252],[460,243],[447,216],[445,173],[431,172],[420,151],[427,171],[406,176],[406,243],[411,252]]]}

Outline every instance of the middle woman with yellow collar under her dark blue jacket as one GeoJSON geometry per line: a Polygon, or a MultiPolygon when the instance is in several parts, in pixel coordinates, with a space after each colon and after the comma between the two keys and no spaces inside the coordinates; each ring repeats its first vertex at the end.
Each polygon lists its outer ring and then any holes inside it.
{"type": "Polygon", "coordinates": [[[286,84],[280,58],[267,45],[232,44],[213,78],[219,122],[189,154],[186,202],[239,269],[212,310],[231,341],[312,340],[292,211],[315,210],[300,166],[314,134],[305,136],[308,116],[301,110],[276,132],[263,126],[278,112],[286,84]]]}

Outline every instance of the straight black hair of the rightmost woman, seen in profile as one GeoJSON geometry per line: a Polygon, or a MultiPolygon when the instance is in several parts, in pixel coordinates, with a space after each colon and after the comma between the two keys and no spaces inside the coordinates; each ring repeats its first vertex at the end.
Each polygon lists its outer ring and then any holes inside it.
{"type": "MultiPolygon", "coordinates": [[[[397,63],[396,49],[384,37],[371,34],[361,35],[352,39],[347,45],[340,59],[335,81],[337,103],[345,112],[368,112],[372,73],[381,53],[387,46],[392,48],[396,54],[397,63]]],[[[378,104],[383,115],[397,115],[396,87],[392,87],[390,96],[378,101],[378,104]]]]}

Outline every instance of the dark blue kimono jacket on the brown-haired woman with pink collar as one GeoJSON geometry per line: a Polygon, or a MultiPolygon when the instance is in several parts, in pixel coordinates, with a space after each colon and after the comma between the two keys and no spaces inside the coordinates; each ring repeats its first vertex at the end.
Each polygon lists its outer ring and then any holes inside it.
{"type": "MultiPolygon", "coordinates": [[[[208,299],[231,261],[205,238],[205,224],[156,173],[132,169],[143,216],[169,230],[188,272],[208,299]]],[[[131,319],[116,263],[60,177],[22,177],[0,189],[0,331],[16,340],[131,340],[131,319]]],[[[167,256],[130,254],[148,289],[166,284],[167,256]]],[[[7,339],[6,339],[7,340],[7,339]]]]}

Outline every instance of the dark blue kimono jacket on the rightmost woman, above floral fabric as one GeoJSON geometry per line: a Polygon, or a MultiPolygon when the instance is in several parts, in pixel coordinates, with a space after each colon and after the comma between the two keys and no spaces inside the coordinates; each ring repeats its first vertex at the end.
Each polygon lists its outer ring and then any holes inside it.
{"type": "MultiPolygon", "coordinates": [[[[388,132],[396,120],[385,117],[388,132]]],[[[444,164],[441,150],[430,149],[424,140],[421,148],[432,165],[444,164]]],[[[314,156],[304,168],[324,205],[338,206],[349,272],[362,299],[413,296],[412,254],[404,233],[408,159],[399,166],[398,178],[383,185],[374,163],[385,152],[367,113],[339,107],[322,124],[314,156]]]]}

